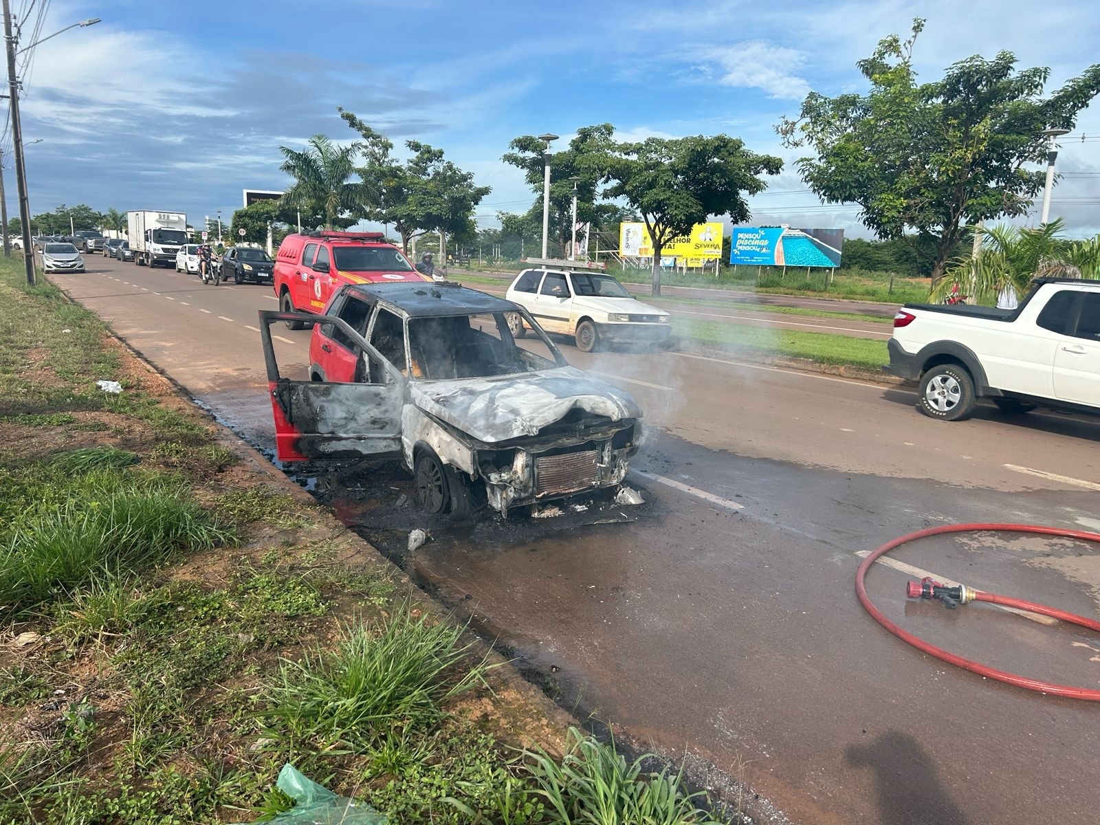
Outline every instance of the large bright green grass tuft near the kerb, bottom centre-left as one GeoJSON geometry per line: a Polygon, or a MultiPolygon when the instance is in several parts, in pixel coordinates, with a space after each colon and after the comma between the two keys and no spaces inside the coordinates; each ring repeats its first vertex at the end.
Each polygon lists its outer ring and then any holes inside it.
{"type": "Polygon", "coordinates": [[[463,629],[414,617],[409,604],[381,625],[345,626],[334,645],[284,662],[263,712],[272,735],[363,748],[387,727],[438,722],[448,700],[484,684],[488,666],[470,663],[463,629]]]}

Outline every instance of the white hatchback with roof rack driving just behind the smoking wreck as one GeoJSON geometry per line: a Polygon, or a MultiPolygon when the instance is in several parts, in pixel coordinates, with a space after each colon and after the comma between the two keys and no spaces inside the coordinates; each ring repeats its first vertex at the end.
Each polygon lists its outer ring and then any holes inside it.
{"type": "MultiPolygon", "coordinates": [[[[592,352],[601,341],[660,346],[669,342],[669,314],[642,304],[602,272],[524,270],[508,287],[507,298],[530,312],[547,332],[572,336],[581,352],[592,352]]],[[[508,326],[515,338],[527,331],[515,312],[508,326]]]]}

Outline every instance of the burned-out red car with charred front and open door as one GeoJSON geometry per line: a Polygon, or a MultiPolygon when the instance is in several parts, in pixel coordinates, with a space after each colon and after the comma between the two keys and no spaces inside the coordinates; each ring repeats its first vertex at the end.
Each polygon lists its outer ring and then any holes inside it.
{"type": "Polygon", "coordinates": [[[527,310],[458,284],[350,284],[324,315],[261,311],[280,461],[399,459],[431,514],[466,518],[617,487],[641,409],[570,366],[527,310]],[[519,312],[535,332],[520,346],[519,312]],[[299,317],[300,316],[300,317],[299,317]],[[312,322],[308,380],[279,373],[276,321],[312,322]]]}

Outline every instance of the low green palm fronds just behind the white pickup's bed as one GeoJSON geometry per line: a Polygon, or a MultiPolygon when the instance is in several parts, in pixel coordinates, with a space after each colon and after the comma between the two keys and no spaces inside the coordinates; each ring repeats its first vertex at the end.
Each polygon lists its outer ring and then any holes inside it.
{"type": "Polygon", "coordinates": [[[1035,229],[1000,226],[976,227],[975,231],[982,237],[978,255],[955,258],[930,300],[943,300],[955,284],[981,301],[993,298],[1007,285],[1016,295],[1024,295],[1037,277],[1100,277],[1100,237],[1067,241],[1058,234],[1060,219],[1035,229]]]}

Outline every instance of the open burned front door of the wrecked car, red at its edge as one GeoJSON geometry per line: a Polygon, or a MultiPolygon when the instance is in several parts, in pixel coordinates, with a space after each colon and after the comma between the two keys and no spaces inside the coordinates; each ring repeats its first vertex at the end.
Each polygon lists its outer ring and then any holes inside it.
{"type": "Polygon", "coordinates": [[[405,376],[344,320],[261,310],[260,337],[279,461],[392,459],[402,452],[405,376]],[[279,374],[272,344],[275,321],[334,324],[354,346],[351,383],[294,381],[279,374]]]}

